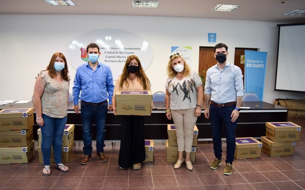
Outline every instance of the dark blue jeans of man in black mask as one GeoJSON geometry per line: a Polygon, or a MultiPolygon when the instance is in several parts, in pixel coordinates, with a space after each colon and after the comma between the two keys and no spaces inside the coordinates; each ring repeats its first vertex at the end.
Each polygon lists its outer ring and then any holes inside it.
{"type": "Polygon", "coordinates": [[[236,104],[227,107],[217,107],[215,105],[210,105],[210,121],[212,126],[213,134],[213,147],[215,157],[219,160],[222,157],[221,149],[221,131],[222,125],[224,125],[226,130],[226,140],[227,140],[227,157],[226,163],[231,163],[234,161],[235,153],[235,130],[237,126],[237,120],[231,122],[231,114],[235,109],[236,104]]]}

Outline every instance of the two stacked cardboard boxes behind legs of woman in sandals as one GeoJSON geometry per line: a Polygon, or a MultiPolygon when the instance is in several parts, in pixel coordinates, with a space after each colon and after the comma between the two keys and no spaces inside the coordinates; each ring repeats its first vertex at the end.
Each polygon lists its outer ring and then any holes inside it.
{"type": "MultiPolygon", "coordinates": [[[[38,134],[38,156],[39,156],[39,164],[43,164],[43,157],[41,152],[41,130],[37,130],[38,134]]],[[[63,131],[63,149],[62,149],[62,162],[69,162],[72,155],[74,147],[74,124],[66,124],[65,129],[63,131]]],[[[54,163],[54,151],[53,147],[51,149],[51,163],[54,163]]]]}

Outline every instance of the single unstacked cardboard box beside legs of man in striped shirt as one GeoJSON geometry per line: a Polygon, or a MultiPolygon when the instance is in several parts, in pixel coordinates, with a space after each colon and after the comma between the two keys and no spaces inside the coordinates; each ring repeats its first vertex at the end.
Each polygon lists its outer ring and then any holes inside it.
{"type": "Polygon", "coordinates": [[[246,158],[259,158],[262,143],[252,137],[236,138],[234,158],[236,160],[246,158]]]}

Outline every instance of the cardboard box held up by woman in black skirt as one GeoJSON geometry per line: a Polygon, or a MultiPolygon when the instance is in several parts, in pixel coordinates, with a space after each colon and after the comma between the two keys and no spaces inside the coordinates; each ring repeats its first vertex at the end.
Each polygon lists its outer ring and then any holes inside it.
{"type": "Polygon", "coordinates": [[[151,91],[117,91],[115,93],[117,115],[150,116],[151,91]]]}

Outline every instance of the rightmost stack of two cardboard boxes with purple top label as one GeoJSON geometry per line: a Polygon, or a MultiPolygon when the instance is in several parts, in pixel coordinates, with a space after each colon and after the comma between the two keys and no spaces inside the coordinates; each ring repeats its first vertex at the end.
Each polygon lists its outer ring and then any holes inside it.
{"type": "Polygon", "coordinates": [[[300,140],[301,126],[292,122],[267,122],[266,136],[261,137],[262,151],[270,157],[293,155],[300,140]]]}

